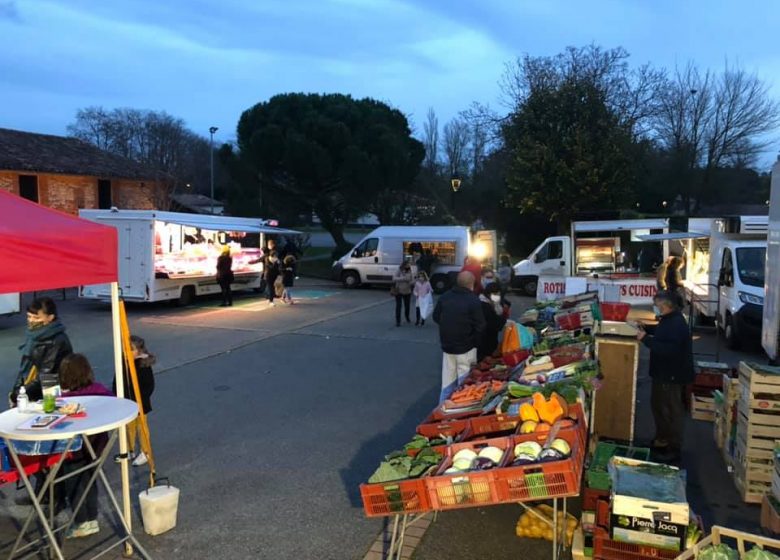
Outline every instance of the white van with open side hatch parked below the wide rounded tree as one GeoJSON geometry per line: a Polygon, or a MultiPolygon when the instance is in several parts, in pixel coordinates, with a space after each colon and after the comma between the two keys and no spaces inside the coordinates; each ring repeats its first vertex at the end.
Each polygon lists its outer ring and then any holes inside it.
{"type": "Polygon", "coordinates": [[[431,269],[431,286],[442,293],[453,283],[467,256],[496,266],[496,234],[492,230],[472,232],[461,226],[382,226],[363,238],[346,255],[333,263],[333,278],[346,288],[361,284],[390,284],[401,263],[414,264],[420,254],[436,257],[431,269]]]}

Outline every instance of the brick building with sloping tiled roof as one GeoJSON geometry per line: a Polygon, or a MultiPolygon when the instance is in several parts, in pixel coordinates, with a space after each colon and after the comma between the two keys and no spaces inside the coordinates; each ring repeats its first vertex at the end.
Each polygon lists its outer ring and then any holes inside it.
{"type": "Polygon", "coordinates": [[[135,161],[64,136],[0,128],[0,189],[43,206],[158,209],[161,174],[135,161]]]}

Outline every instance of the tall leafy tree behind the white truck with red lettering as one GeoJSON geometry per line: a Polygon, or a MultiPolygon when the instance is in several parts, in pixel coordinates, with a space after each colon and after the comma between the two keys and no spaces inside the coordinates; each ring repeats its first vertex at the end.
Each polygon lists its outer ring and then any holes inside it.
{"type": "Polygon", "coordinates": [[[635,206],[639,139],[663,76],[630,70],[627,57],[591,46],[508,68],[508,204],[561,230],[580,213],[635,206]]]}

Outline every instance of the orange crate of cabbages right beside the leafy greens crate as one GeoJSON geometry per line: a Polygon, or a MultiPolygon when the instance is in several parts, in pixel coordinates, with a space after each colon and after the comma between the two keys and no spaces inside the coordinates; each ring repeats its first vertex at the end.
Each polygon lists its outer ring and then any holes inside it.
{"type": "Polygon", "coordinates": [[[431,509],[439,511],[499,503],[496,473],[505,462],[511,438],[456,443],[435,476],[425,479],[431,509]]]}

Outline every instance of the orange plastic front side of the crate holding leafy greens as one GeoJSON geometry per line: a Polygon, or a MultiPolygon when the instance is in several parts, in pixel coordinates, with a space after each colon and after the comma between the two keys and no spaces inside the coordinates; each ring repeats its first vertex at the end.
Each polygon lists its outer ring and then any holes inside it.
{"type": "Polygon", "coordinates": [[[421,513],[431,510],[428,477],[382,482],[379,484],[361,484],[360,497],[363,498],[363,510],[368,517],[384,517],[399,513],[421,513]]]}

